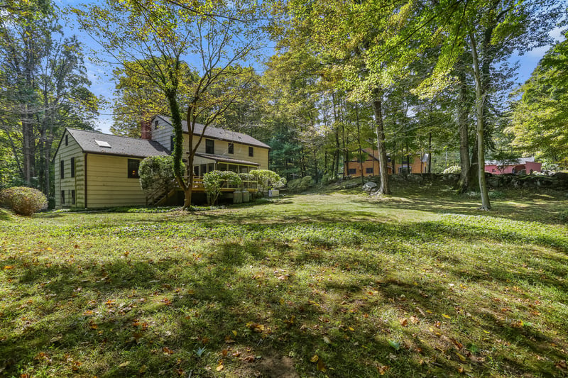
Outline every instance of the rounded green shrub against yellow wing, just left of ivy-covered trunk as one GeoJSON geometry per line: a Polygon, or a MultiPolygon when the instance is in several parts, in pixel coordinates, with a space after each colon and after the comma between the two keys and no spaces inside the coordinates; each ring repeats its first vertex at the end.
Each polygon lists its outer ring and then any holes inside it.
{"type": "Polygon", "coordinates": [[[154,191],[170,191],[173,187],[175,174],[173,172],[173,157],[150,156],[140,162],[138,169],[140,187],[146,194],[154,191]]]}

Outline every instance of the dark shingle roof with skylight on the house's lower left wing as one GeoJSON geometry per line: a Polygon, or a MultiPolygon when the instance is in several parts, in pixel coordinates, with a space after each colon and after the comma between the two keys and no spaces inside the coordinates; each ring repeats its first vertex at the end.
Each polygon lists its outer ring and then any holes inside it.
{"type": "Polygon", "coordinates": [[[97,133],[96,131],[78,130],[76,128],[66,128],[66,130],[79,144],[83,152],[129,157],[169,155],[169,151],[154,140],[129,138],[120,135],[97,133]],[[106,147],[106,145],[110,147],[106,147]]]}

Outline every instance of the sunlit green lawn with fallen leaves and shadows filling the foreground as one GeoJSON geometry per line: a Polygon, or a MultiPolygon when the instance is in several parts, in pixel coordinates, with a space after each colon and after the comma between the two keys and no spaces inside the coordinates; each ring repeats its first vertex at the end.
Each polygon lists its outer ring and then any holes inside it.
{"type": "Polygon", "coordinates": [[[561,193],[0,210],[0,376],[564,377],[561,193]]]}

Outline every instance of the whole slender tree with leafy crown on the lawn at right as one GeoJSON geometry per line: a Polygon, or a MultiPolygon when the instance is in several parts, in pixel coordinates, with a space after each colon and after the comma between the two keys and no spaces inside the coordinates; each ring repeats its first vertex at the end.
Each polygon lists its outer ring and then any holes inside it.
{"type": "Polygon", "coordinates": [[[437,65],[417,92],[425,95],[446,88],[454,79],[450,73],[457,62],[461,60],[470,65],[475,84],[476,160],[481,191],[479,209],[488,210],[491,204],[484,165],[488,104],[499,75],[495,70],[496,65],[503,66],[515,49],[526,51],[546,43],[547,31],[557,19],[559,6],[547,0],[476,0],[465,3],[450,0],[433,5],[423,9],[422,19],[429,20],[444,33],[428,39],[427,35],[420,35],[416,25],[411,26],[411,30],[415,30],[420,38],[431,43],[439,43],[439,38],[443,37],[437,65]],[[466,59],[464,54],[467,55],[466,59]]]}

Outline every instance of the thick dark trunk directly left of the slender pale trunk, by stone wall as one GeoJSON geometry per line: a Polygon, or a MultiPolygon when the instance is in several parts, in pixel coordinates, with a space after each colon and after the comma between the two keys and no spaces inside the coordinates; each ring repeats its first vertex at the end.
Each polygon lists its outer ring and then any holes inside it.
{"type": "Polygon", "coordinates": [[[461,67],[459,67],[457,72],[457,79],[459,85],[459,97],[458,97],[458,118],[457,123],[459,127],[459,166],[461,167],[461,174],[459,179],[459,192],[465,193],[470,186],[470,169],[471,161],[469,160],[469,125],[468,125],[468,113],[469,104],[467,101],[467,84],[466,84],[466,72],[463,67],[464,61],[461,61],[461,67]]]}

